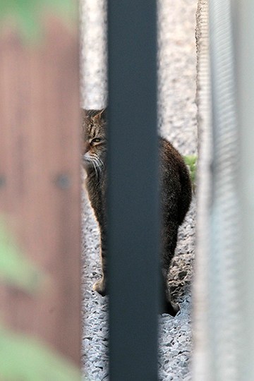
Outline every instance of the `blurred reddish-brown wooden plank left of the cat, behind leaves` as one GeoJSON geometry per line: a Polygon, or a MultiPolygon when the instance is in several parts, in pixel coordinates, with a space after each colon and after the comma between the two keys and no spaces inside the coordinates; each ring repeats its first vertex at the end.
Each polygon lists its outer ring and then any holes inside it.
{"type": "Polygon", "coordinates": [[[51,279],[32,298],[4,286],[8,325],[80,359],[78,31],[47,20],[40,46],[0,40],[0,213],[51,279]]]}

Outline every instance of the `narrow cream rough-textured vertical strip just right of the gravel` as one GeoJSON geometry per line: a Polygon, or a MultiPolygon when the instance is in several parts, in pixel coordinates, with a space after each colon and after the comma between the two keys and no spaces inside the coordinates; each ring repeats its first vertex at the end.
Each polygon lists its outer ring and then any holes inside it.
{"type": "Polygon", "coordinates": [[[198,104],[198,219],[193,284],[194,380],[211,381],[209,338],[208,262],[210,250],[209,213],[211,200],[212,126],[210,105],[210,57],[208,38],[208,0],[198,0],[197,11],[197,104],[198,104]],[[202,176],[200,176],[202,174],[202,176]]]}

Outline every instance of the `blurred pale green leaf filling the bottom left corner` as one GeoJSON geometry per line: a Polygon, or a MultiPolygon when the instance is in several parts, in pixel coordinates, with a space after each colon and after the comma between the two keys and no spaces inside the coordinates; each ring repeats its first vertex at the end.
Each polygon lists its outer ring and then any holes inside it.
{"type": "Polygon", "coordinates": [[[80,371],[36,339],[0,327],[0,379],[80,381],[80,371]]]}

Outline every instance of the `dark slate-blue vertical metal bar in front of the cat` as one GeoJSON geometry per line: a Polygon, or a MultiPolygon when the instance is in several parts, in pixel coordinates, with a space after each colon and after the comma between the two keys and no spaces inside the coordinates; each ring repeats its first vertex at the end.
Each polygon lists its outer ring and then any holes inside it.
{"type": "Polygon", "coordinates": [[[111,381],[157,380],[155,0],[109,0],[111,381]]]}

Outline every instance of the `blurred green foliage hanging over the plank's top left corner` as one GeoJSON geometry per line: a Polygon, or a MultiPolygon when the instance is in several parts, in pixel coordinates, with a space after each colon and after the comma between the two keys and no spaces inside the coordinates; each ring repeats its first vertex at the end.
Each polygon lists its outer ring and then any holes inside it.
{"type": "Polygon", "coordinates": [[[76,5],[73,0],[0,0],[0,25],[13,20],[22,37],[35,42],[42,36],[45,13],[52,13],[70,23],[75,19],[76,5]]]}

